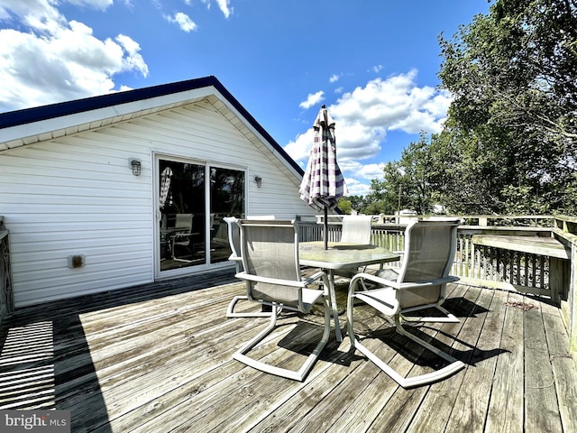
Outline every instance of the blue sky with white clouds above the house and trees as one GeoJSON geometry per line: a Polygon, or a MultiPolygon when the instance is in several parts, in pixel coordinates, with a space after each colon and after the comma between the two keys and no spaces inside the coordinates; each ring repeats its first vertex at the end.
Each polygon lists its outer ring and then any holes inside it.
{"type": "Polygon", "coordinates": [[[215,75],[302,165],[322,104],[349,194],[442,128],[437,36],[487,0],[0,0],[0,112],[215,75]]]}

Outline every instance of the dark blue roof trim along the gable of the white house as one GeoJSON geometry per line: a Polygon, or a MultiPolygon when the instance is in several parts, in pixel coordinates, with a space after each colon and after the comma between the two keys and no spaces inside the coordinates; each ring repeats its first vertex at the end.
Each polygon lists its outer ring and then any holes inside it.
{"type": "Polygon", "coordinates": [[[21,124],[31,124],[32,122],[41,122],[63,115],[74,115],[83,113],[85,111],[96,110],[98,108],[105,108],[107,106],[117,106],[130,102],[139,101],[142,99],[150,99],[151,97],[162,97],[174,93],[185,92],[187,90],[194,90],[197,88],[207,88],[213,86],[218,90],[226,100],[234,106],[234,108],[243,117],[252,124],[252,127],[261,134],[266,141],[268,141],[277,152],[289,162],[291,167],[302,175],[305,171],[294,161],[287,152],[275,141],[272,136],[259,124],[254,117],[241,105],[238,100],[222,85],[222,83],[215,76],[188,79],[186,81],[178,81],[175,83],[161,84],[151,88],[137,88],[134,90],[126,90],[123,92],[111,93],[101,95],[98,97],[87,97],[68,102],[61,102],[58,104],[50,104],[48,106],[35,106],[23,110],[10,111],[0,114],[0,129],[9,128],[21,124]]]}

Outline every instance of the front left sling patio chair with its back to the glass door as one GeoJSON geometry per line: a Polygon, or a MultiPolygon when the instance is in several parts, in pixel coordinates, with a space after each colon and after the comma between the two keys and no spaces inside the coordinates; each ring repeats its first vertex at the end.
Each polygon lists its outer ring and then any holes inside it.
{"type": "Polygon", "coordinates": [[[262,305],[269,305],[272,314],[269,326],[244,344],[233,357],[262,372],[303,381],[316,363],[330,335],[331,308],[328,302],[330,295],[326,290],[328,287],[326,274],[316,272],[310,277],[301,277],[298,263],[298,227],[294,221],[241,220],[238,224],[241,229],[244,271],[236,276],[246,281],[247,298],[262,305]],[[308,288],[321,279],[324,282],[324,290],[308,288]],[[323,336],[297,371],[266,364],[247,355],[276,328],[280,310],[307,314],[317,302],[322,302],[325,309],[323,336]]]}

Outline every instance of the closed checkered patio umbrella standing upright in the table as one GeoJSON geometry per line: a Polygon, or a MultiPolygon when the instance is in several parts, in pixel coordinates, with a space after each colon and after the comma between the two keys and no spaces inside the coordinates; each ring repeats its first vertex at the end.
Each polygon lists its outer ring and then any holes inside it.
{"type": "Polygon", "coordinates": [[[325,212],[325,249],[328,242],[328,211],[346,193],[343,173],[336,162],[334,120],[325,106],[316,115],[313,147],[298,192],[310,207],[325,212]]]}

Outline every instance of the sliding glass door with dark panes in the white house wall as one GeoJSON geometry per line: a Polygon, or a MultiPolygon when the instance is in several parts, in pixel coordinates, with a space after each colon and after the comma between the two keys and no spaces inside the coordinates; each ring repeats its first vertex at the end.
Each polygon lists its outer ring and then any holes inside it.
{"type": "Polygon", "coordinates": [[[197,161],[157,161],[160,274],[228,260],[223,217],[244,215],[244,171],[197,161]]]}

